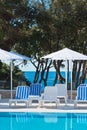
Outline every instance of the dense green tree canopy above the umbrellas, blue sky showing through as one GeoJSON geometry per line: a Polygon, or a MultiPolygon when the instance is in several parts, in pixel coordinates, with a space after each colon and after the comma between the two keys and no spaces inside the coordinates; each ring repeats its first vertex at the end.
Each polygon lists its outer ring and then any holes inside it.
{"type": "Polygon", "coordinates": [[[27,56],[63,47],[86,54],[86,0],[1,0],[0,7],[2,48],[27,56]]]}

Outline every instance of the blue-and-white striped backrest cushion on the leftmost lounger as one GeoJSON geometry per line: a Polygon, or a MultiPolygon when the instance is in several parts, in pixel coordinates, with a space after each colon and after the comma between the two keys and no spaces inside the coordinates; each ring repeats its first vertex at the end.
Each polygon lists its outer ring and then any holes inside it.
{"type": "Polygon", "coordinates": [[[27,99],[29,95],[28,86],[18,86],[16,89],[16,99],[27,99]]]}

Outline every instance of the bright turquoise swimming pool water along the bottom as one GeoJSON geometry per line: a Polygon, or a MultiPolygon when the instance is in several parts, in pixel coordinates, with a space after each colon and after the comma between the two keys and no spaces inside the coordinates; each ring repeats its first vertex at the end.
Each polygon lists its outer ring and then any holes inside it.
{"type": "Polygon", "coordinates": [[[86,130],[87,113],[0,112],[0,130],[86,130]]]}

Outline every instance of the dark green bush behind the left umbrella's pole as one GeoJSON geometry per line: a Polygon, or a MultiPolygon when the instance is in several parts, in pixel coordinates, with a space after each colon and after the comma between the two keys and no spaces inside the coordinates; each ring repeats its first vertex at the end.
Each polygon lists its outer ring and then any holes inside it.
{"type": "MultiPolygon", "coordinates": [[[[16,66],[13,67],[12,75],[13,89],[17,87],[19,83],[20,85],[22,85],[22,83],[25,83],[26,85],[30,84],[30,82],[24,77],[23,72],[16,66]]],[[[0,83],[4,82],[4,85],[1,85],[1,87],[4,87],[4,89],[10,89],[10,80],[10,66],[0,62],[0,83]]]]}

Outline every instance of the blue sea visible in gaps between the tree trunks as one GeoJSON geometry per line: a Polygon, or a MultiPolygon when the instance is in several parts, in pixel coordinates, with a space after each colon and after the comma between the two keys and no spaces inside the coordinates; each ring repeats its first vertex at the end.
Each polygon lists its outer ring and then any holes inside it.
{"type": "MultiPolygon", "coordinates": [[[[61,75],[65,78],[65,71],[61,71],[61,75]]],[[[33,83],[34,76],[35,76],[35,71],[25,71],[24,72],[24,76],[26,77],[26,79],[28,81],[30,81],[30,83],[33,83]]],[[[47,80],[47,86],[53,86],[55,76],[56,76],[56,72],[55,71],[50,71],[49,72],[48,80],[47,80]]],[[[71,73],[69,72],[68,83],[71,82],[71,78],[70,77],[71,77],[71,73]]],[[[40,77],[39,77],[39,79],[40,79],[40,77]]],[[[38,80],[38,82],[39,82],[39,80],[38,80]]],[[[58,80],[57,80],[57,83],[59,83],[58,80]]],[[[85,83],[87,83],[87,75],[86,75],[85,83]]],[[[42,82],[42,89],[44,89],[43,82],[42,82]]]]}

